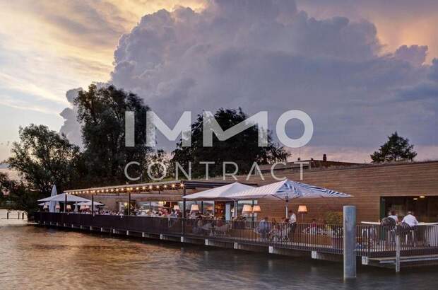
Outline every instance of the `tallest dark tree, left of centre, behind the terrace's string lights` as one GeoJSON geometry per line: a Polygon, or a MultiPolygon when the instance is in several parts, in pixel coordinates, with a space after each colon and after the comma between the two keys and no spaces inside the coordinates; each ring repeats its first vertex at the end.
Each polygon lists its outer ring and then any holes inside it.
{"type": "MultiPolygon", "coordinates": [[[[126,182],[124,167],[131,161],[141,163],[143,170],[150,148],[146,146],[146,112],[148,106],[134,93],[114,86],[88,86],[74,100],[85,151],[84,170],[87,182],[112,185],[126,182]],[[125,146],[125,112],[135,112],[135,146],[125,146]]],[[[134,167],[132,167],[134,168],[134,167]]],[[[131,176],[139,174],[130,173],[131,176]]]]}

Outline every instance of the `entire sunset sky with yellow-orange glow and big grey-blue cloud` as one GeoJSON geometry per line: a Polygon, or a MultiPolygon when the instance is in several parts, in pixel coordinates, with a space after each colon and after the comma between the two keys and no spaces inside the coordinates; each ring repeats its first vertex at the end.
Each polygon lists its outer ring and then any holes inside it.
{"type": "Polygon", "coordinates": [[[54,3],[0,0],[0,160],[30,123],[80,143],[71,100],[92,82],[138,93],[168,124],[240,106],[274,128],[304,110],[314,137],[294,159],[367,162],[394,131],[438,158],[437,1],[54,3]]]}

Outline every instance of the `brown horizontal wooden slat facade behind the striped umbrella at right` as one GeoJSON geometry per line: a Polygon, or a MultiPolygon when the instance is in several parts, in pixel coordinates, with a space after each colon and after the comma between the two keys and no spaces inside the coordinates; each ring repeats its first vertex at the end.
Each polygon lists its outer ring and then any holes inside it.
{"type": "MultiPolygon", "coordinates": [[[[278,178],[300,181],[300,173],[276,171],[278,178]]],[[[275,182],[270,173],[265,180],[252,176],[249,182],[265,185],[275,182]]],[[[246,178],[239,178],[246,180],[246,178]]],[[[304,221],[322,221],[327,211],[342,211],[343,205],[357,206],[357,221],[379,220],[380,197],[390,196],[438,196],[438,161],[420,163],[360,166],[357,168],[326,168],[304,170],[302,182],[345,192],[354,197],[342,199],[295,199],[290,209],[295,213],[299,204],[307,205],[304,221]]],[[[285,216],[284,202],[260,199],[261,216],[281,219],[285,216]]],[[[297,216],[300,221],[301,216],[297,216]]]]}

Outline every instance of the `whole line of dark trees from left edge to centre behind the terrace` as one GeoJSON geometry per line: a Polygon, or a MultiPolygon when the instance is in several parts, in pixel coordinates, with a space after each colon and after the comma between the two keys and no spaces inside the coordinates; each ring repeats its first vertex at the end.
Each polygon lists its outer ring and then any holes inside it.
{"type": "MultiPolygon", "coordinates": [[[[148,182],[148,164],[157,161],[168,166],[168,178],[172,178],[174,163],[188,166],[191,162],[191,176],[199,178],[205,175],[205,166],[198,161],[214,161],[217,166],[209,168],[209,175],[214,176],[222,174],[224,161],[237,163],[239,173],[244,174],[253,162],[272,163],[288,157],[285,149],[273,142],[271,132],[267,133],[268,146],[259,147],[256,126],[226,141],[213,136],[213,147],[203,147],[201,115],[191,125],[192,146],[183,147],[179,141],[170,153],[153,150],[146,146],[146,112],[150,108],[138,95],[114,86],[97,88],[92,84],[88,91],[78,93],[74,104],[78,108],[83,149],[44,125],[20,128],[19,141],[13,143],[11,157],[4,161],[11,170],[18,171],[20,180],[0,175],[0,202],[31,212],[37,209],[37,199],[50,195],[53,185],[62,192],[129,183],[124,169],[131,161],[139,166],[130,167],[129,175],[141,176],[141,181],[148,182]],[[133,147],[125,146],[126,111],[135,112],[133,147]]],[[[215,119],[225,130],[247,119],[247,115],[240,108],[220,109],[215,112],[215,119]]],[[[160,166],[154,170],[160,175],[160,166]]]]}

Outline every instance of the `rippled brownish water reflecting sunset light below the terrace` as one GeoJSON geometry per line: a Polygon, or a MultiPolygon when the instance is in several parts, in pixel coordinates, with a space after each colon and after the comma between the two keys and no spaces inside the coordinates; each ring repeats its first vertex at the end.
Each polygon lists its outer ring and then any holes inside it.
{"type": "Polygon", "coordinates": [[[0,289],[436,289],[437,270],[360,267],[344,282],[341,263],[0,219],[0,289]]]}

